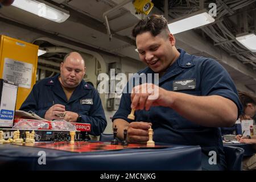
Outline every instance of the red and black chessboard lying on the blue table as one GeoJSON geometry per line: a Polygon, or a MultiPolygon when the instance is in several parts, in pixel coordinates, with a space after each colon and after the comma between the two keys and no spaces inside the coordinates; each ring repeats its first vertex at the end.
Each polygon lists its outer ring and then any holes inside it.
{"type": "MultiPolygon", "coordinates": [[[[19,144],[20,145],[20,144],[19,144]]],[[[22,144],[26,146],[26,144],[22,144]]],[[[110,142],[35,142],[34,145],[29,147],[47,148],[53,150],[61,150],[68,152],[96,152],[96,151],[112,151],[123,150],[126,148],[166,148],[170,146],[147,146],[146,144],[129,143],[128,146],[122,146],[121,144],[110,144],[110,142]]]]}

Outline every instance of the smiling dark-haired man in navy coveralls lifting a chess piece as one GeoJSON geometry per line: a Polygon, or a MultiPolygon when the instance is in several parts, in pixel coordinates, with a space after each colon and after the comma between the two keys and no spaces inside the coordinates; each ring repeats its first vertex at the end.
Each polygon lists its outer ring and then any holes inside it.
{"type": "Polygon", "coordinates": [[[203,169],[225,169],[218,127],[232,126],[242,110],[228,73],[213,59],[176,49],[163,16],[151,15],[141,20],[134,27],[133,36],[139,57],[147,64],[138,74],[159,73],[159,83],[140,82],[134,87],[127,84],[125,90],[132,92],[123,92],[112,118],[113,127],[120,131],[118,138],[122,139],[122,131],[127,129],[128,142],[146,143],[152,127],[155,142],[199,145],[203,169]],[[154,89],[142,92],[148,86],[154,89]],[[153,95],[158,97],[150,98],[153,95]],[[136,109],[135,121],[127,118],[131,108],[136,109]],[[215,165],[209,164],[210,151],[217,154],[215,165]]]}

